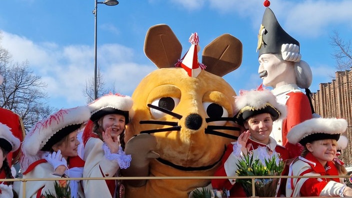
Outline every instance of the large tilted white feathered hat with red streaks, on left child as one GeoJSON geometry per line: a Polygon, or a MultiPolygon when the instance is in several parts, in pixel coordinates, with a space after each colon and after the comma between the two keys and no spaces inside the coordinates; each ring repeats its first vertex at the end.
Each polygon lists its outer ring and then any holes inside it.
{"type": "Polygon", "coordinates": [[[82,123],[89,120],[89,116],[90,111],[87,106],[78,106],[61,109],[38,121],[24,138],[23,153],[36,155],[39,150],[50,151],[52,145],[80,128],[82,123]]]}

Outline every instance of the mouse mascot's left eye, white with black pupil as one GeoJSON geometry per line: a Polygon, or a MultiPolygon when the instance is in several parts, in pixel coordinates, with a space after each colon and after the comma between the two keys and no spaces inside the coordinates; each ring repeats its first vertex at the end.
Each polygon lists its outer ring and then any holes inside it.
{"type": "MultiPolygon", "coordinates": [[[[172,111],[177,106],[178,103],[179,103],[179,98],[176,98],[176,97],[160,97],[151,102],[151,104],[154,106],[159,106],[161,108],[165,108],[170,111],[172,111]]],[[[166,113],[153,108],[150,108],[150,113],[155,119],[158,119],[166,115],[166,113]]]]}

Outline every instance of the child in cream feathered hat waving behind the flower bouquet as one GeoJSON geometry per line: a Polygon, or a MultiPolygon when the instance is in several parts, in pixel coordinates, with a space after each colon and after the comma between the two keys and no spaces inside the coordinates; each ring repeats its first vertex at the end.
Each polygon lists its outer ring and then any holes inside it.
{"type": "MultiPolygon", "coordinates": [[[[285,160],[288,151],[270,137],[274,120],[286,116],[286,107],[276,101],[276,97],[260,85],[257,90],[239,92],[235,96],[235,120],[245,128],[237,141],[231,142],[222,158],[215,176],[236,176],[238,160],[251,153],[259,157],[262,152],[277,155],[285,160]]],[[[235,179],[212,179],[216,189],[227,189],[231,197],[246,196],[243,187],[235,179]]]]}

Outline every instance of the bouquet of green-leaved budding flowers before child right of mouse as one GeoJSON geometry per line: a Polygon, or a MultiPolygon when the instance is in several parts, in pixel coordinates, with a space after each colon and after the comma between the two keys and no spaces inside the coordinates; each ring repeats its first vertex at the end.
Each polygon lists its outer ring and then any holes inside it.
{"type": "MultiPolygon", "coordinates": [[[[258,156],[255,158],[252,153],[241,156],[241,159],[236,164],[237,176],[281,175],[284,168],[284,161],[279,158],[276,152],[270,155],[266,147],[260,147],[257,148],[258,156]]],[[[236,179],[236,182],[241,183],[248,197],[252,196],[252,182],[250,178],[236,179]]],[[[276,196],[278,184],[279,178],[255,178],[255,196],[276,196]]]]}

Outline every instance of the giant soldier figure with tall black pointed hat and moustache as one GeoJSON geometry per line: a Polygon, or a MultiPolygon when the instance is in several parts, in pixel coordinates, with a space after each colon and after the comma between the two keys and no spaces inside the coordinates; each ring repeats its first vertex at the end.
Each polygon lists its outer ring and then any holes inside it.
{"type": "Polygon", "coordinates": [[[258,73],[263,84],[271,86],[277,101],[287,106],[286,119],[276,120],[270,135],[294,158],[303,147],[287,142],[286,135],[294,125],[312,117],[310,98],[299,89],[305,88],[309,95],[312,73],[309,65],[301,60],[299,42],[283,30],[268,7],[260,25],[257,51],[258,73]]]}

